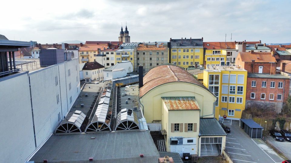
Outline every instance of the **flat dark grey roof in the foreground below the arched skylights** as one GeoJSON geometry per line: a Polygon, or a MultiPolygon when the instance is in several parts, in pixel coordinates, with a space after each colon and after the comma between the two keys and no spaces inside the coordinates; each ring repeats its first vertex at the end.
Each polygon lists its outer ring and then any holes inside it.
{"type": "Polygon", "coordinates": [[[52,135],[30,161],[89,162],[91,157],[93,162],[157,162],[160,154],[149,131],[99,132],[52,135]]]}

